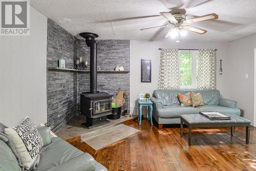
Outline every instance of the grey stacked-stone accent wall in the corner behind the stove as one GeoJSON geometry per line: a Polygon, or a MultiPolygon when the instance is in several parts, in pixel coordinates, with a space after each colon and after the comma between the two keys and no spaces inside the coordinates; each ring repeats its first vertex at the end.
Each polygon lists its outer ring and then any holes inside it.
{"type": "MultiPolygon", "coordinates": [[[[114,70],[117,65],[130,70],[130,40],[97,42],[98,70],[114,70]]],[[[89,61],[90,70],[90,47],[86,42],[48,19],[47,67],[58,67],[58,59],[65,59],[66,68],[74,69],[77,53],[89,61]]],[[[98,73],[98,91],[115,95],[119,88],[130,91],[130,73],[98,73]]],[[[88,73],[47,71],[47,116],[53,131],[58,131],[80,113],[80,93],[89,91],[88,73]]]]}

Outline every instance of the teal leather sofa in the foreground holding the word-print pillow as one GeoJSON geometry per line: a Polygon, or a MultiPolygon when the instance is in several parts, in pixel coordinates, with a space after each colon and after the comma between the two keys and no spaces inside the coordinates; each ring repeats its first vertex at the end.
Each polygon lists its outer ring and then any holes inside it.
{"type": "MultiPolygon", "coordinates": [[[[107,171],[103,165],[94,158],[83,153],[76,147],[58,137],[51,138],[47,126],[37,127],[43,141],[44,147],[40,152],[38,166],[34,171],[107,171]]],[[[18,161],[6,142],[0,140],[0,170],[21,171],[18,161]]]]}

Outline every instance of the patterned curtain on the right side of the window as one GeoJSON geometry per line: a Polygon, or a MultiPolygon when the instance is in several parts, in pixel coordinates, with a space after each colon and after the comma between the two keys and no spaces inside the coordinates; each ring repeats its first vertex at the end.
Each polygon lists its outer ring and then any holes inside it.
{"type": "Polygon", "coordinates": [[[197,89],[216,89],[216,65],[214,49],[199,49],[197,89]]]}

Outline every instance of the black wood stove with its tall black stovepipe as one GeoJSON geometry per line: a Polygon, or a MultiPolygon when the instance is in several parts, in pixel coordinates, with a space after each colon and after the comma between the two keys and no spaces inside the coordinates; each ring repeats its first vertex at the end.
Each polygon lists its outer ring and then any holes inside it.
{"type": "Polygon", "coordinates": [[[81,126],[91,129],[109,123],[106,116],[112,114],[111,97],[108,93],[97,91],[97,42],[95,33],[80,33],[86,39],[86,44],[90,47],[90,92],[80,94],[81,114],[86,116],[86,123],[81,126]]]}

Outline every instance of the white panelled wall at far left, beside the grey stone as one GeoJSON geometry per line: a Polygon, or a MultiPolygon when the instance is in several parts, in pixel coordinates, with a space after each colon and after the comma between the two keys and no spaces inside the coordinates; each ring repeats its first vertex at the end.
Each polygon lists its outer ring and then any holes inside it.
{"type": "Polygon", "coordinates": [[[47,122],[47,17],[30,7],[30,36],[0,36],[0,122],[47,122]]]}

